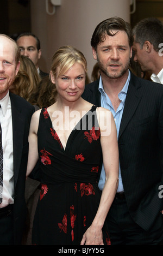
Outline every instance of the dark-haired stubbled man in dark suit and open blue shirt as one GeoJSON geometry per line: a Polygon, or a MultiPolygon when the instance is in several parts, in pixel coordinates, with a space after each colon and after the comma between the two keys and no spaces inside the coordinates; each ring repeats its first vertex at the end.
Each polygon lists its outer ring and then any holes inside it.
{"type": "MultiPolygon", "coordinates": [[[[119,184],[107,218],[111,245],[162,245],[163,87],[130,72],[133,33],[120,17],[99,23],[91,46],[101,76],[86,85],[82,97],[112,112],[120,156],[119,184]]],[[[104,183],[102,164],[101,190],[104,183]]]]}

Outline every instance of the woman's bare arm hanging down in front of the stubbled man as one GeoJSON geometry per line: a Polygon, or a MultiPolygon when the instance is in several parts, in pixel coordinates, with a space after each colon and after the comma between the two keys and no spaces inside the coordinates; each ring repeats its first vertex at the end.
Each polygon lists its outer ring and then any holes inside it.
{"type": "Polygon", "coordinates": [[[101,146],[105,169],[105,186],[91,226],[86,230],[81,245],[103,245],[102,228],[118,187],[118,142],[114,118],[109,110],[98,108],[101,146]]]}

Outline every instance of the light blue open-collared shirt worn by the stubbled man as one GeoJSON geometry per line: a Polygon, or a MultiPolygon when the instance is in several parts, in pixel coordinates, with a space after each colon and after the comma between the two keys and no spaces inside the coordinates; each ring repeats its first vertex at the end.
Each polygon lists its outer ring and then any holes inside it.
{"type": "MultiPolygon", "coordinates": [[[[102,78],[100,77],[100,79],[99,79],[98,90],[99,90],[99,92],[101,92],[101,106],[105,109],[109,109],[111,111],[112,115],[114,116],[116,129],[117,129],[117,138],[118,138],[118,134],[119,134],[119,131],[120,131],[121,118],[122,118],[122,114],[123,114],[124,103],[125,103],[125,100],[126,100],[129,81],[130,81],[130,72],[129,72],[126,84],[124,85],[122,91],[118,94],[118,98],[121,100],[121,103],[120,103],[120,105],[118,106],[118,108],[115,112],[108,95],[105,93],[105,91],[103,89],[102,78]]],[[[104,183],[105,183],[105,170],[104,170],[104,165],[103,165],[102,166],[102,171],[101,171],[101,176],[99,178],[99,183],[98,183],[99,189],[101,189],[101,190],[103,189],[104,183]]],[[[117,192],[123,192],[123,184],[122,184],[120,164],[119,164],[119,183],[118,183],[117,192]]]]}

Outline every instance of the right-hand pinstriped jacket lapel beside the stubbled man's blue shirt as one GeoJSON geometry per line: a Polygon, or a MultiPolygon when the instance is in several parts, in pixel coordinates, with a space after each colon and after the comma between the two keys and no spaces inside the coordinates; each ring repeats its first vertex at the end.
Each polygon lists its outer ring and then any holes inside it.
{"type": "Polygon", "coordinates": [[[126,126],[129,123],[131,117],[134,115],[134,112],[136,111],[136,108],[139,105],[139,102],[142,98],[141,90],[139,90],[140,87],[141,85],[139,80],[136,79],[133,74],[131,74],[131,79],[129,82],[126,102],[124,105],[124,110],[123,110],[123,115],[121,120],[120,132],[118,136],[119,139],[122,133],[124,132],[124,129],[126,129],[126,126]]]}

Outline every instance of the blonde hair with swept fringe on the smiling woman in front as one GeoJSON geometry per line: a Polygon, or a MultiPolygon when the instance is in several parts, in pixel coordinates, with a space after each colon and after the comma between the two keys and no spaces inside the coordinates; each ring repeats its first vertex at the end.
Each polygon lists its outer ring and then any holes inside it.
{"type": "Polygon", "coordinates": [[[63,75],[74,63],[82,64],[86,74],[87,62],[83,53],[71,45],[61,46],[52,58],[51,71],[54,78],[57,78],[57,68],[59,68],[58,75],[63,75]]]}

